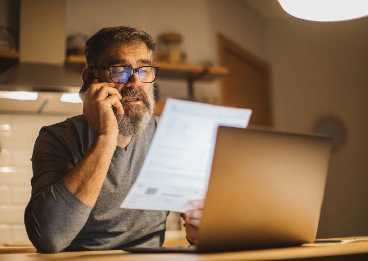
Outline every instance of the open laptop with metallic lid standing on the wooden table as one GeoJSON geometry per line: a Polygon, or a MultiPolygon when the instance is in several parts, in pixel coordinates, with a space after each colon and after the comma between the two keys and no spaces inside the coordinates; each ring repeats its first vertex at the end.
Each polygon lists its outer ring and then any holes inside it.
{"type": "Polygon", "coordinates": [[[196,246],[136,253],[221,252],[315,240],[331,138],[220,126],[196,246]]]}

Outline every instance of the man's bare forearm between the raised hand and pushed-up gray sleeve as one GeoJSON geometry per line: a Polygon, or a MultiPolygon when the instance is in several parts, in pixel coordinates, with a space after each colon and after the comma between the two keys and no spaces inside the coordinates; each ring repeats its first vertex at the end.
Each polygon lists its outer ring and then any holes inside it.
{"type": "Polygon", "coordinates": [[[115,149],[116,140],[97,137],[83,159],[63,177],[70,192],[87,206],[96,203],[115,149]]]}

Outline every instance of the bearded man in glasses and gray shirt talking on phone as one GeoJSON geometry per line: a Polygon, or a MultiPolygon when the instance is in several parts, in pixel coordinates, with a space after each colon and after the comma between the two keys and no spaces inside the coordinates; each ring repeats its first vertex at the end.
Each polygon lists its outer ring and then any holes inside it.
{"type": "MultiPolygon", "coordinates": [[[[119,208],[157,126],[154,51],[152,37],[131,27],[103,28],[86,42],[83,114],[43,127],[31,159],[25,225],[38,251],[162,245],[167,211],[119,208]]],[[[185,220],[196,243],[202,201],[193,206],[185,220]]]]}

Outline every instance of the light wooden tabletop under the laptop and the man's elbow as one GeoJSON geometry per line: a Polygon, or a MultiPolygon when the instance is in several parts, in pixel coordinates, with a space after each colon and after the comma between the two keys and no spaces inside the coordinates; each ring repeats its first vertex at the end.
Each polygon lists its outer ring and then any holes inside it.
{"type": "Polygon", "coordinates": [[[193,261],[247,261],[247,260],[368,260],[368,242],[326,244],[318,246],[238,251],[211,254],[131,254],[123,250],[64,252],[58,254],[3,254],[0,261],[85,261],[85,260],[193,260],[193,261]]]}

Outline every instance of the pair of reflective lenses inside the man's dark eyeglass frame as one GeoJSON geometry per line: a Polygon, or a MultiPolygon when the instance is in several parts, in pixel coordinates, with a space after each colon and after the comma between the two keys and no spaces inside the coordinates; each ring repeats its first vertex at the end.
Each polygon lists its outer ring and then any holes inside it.
{"type": "MultiPolygon", "coordinates": [[[[126,83],[132,75],[132,70],[128,67],[112,67],[110,68],[111,79],[113,82],[126,83]]],[[[137,70],[137,75],[143,83],[153,82],[156,77],[157,70],[153,67],[141,67],[137,70]]]]}

